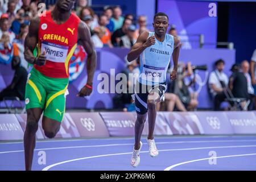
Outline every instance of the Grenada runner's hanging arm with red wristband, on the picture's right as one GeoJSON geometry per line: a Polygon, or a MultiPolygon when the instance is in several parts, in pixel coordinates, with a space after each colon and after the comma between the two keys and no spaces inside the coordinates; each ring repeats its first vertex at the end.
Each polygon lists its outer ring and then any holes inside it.
{"type": "Polygon", "coordinates": [[[84,22],[79,23],[79,37],[78,40],[81,43],[82,47],[84,47],[88,57],[86,60],[86,70],[87,70],[87,82],[84,86],[78,96],[89,96],[92,93],[92,89],[90,87],[93,85],[93,76],[96,69],[96,51],[94,50],[94,46],[92,43],[92,40],[90,39],[90,31],[89,28],[86,26],[84,22]],[[88,87],[89,85],[89,87],[88,87]]]}

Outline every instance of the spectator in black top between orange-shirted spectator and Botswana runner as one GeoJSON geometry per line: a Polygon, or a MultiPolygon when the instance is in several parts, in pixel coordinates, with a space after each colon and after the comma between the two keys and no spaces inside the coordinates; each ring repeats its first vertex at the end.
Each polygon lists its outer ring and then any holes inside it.
{"type": "Polygon", "coordinates": [[[130,27],[130,26],[131,26],[131,20],[130,19],[125,19],[123,21],[122,28],[119,28],[116,31],[114,31],[114,33],[111,37],[113,46],[115,46],[115,47],[119,46],[119,43],[121,41],[121,37],[127,34],[128,27],[130,27]]]}

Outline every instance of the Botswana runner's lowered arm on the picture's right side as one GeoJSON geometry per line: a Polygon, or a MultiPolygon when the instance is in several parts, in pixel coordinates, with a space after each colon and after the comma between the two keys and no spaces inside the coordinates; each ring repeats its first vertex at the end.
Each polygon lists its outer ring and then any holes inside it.
{"type": "Polygon", "coordinates": [[[180,53],[180,39],[174,36],[174,52],[172,53],[172,60],[174,61],[174,70],[171,73],[171,80],[175,80],[177,77],[177,64],[179,61],[180,53]]]}

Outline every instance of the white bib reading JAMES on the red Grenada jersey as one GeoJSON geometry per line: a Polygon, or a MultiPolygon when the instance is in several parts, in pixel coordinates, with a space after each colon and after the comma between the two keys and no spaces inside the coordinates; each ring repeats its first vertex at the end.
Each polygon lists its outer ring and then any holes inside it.
{"type": "Polygon", "coordinates": [[[46,59],[56,63],[65,63],[68,46],[61,46],[49,42],[42,42],[41,52],[46,51],[46,59]]]}

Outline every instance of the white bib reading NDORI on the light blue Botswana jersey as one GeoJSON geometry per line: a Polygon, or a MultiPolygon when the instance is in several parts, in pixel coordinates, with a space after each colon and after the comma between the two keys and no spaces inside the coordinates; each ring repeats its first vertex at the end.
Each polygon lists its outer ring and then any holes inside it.
{"type": "Polygon", "coordinates": [[[164,68],[143,65],[142,79],[152,82],[163,82],[165,73],[164,71],[164,68]]]}

